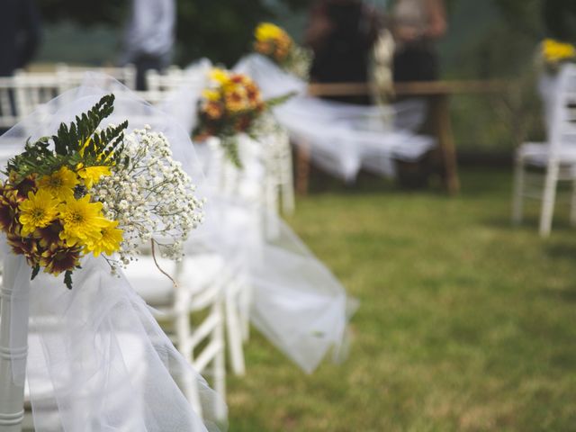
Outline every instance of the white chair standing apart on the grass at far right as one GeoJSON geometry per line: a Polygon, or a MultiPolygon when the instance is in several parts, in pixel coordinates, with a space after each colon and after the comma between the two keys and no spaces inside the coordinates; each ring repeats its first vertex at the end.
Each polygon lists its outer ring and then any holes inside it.
{"type": "Polygon", "coordinates": [[[512,220],[520,223],[525,197],[541,198],[540,236],[550,235],[558,181],[572,182],[571,222],[576,224],[576,66],[565,65],[559,72],[556,94],[552,98],[548,142],[527,142],[518,148],[514,175],[512,220]],[[527,188],[532,173],[544,171],[544,187],[535,193],[527,188]]]}

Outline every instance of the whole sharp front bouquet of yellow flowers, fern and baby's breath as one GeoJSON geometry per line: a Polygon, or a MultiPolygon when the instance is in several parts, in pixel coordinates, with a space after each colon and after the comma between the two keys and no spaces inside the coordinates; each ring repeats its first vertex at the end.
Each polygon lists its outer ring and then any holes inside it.
{"type": "Polygon", "coordinates": [[[0,185],[0,229],[33,279],[40,269],[72,273],[81,258],[101,254],[114,273],[143,242],[166,238],[163,255],[182,256],[182,240],[202,219],[193,184],[170,156],[166,138],[149,130],[125,133],[128,121],[99,129],[113,94],[56,135],[27,142],[8,161],[0,185]]]}

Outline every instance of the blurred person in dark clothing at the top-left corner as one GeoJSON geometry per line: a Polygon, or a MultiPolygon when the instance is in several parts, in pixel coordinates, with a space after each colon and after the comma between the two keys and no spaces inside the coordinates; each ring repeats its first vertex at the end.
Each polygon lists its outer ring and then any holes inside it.
{"type": "Polygon", "coordinates": [[[30,62],[40,43],[40,13],[33,0],[2,0],[0,76],[30,62]]]}

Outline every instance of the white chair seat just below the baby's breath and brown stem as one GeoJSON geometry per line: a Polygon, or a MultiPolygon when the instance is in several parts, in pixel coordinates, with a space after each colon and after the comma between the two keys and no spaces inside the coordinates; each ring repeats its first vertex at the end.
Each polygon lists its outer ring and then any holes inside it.
{"type": "MultiPolygon", "coordinates": [[[[176,277],[176,263],[173,260],[157,257],[157,263],[168,275],[176,277]]],[[[184,257],[177,283],[193,293],[199,292],[217,278],[223,268],[224,260],[215,254],[184,257]]],[[[124,274],[132,288],[149,305],[170,306],[174,303],[174,284],[160,272],[153,257],[139,257],[138,261],[130,263],[124,274]]]]}

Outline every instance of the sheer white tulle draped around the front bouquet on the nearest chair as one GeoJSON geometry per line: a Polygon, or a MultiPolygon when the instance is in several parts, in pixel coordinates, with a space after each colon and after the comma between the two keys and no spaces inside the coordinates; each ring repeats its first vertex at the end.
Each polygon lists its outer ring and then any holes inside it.
{"type": "MultiPolygon", "coordinates": [[[[116,94],[112,122],[128,119],[130,129],[149,123],[161,130],[193,181],[202,180],[188,133],[104,76],[88,77],[85,85],[0,137],[2,163],[21,151],[28,137],[54,133],[60,122],[71,121],[111,91],[116,94]]],[[[30,323],[28,361],[14,356],[14,382],[28,380],[37,431],[226,428],[224,402],[176,351],[128,281],[110,274],[102,257],[84,258],[70,291],[52,275],[40,274],[31,282],[23,257],[6,250],[4,244],[4,286],[13,290],[12,347],[19,347],[30,323]],[[184,382],[199,389],[203,421],[178,386],[184,382]]]]}

